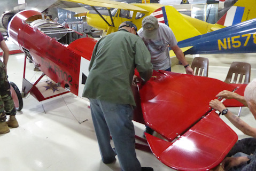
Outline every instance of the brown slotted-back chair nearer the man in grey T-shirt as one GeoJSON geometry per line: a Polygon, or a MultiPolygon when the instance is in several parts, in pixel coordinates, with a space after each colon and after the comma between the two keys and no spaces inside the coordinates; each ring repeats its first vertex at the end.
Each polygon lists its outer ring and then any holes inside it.
{"type": "Polygon", "coordinates": [[[192,61],[191,68],[195,75],[208,77],[208,58],[195,57],[192,61]]]}

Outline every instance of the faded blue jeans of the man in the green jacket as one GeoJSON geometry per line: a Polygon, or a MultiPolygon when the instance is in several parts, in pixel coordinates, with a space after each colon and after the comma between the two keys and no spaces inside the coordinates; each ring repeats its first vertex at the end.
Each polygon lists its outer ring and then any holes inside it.
{"type": "Polygon", "coordinates": [[[135,152],[132,106],[90,99],[90,107],[102,161],[113,162],[116,151],[123,171],[141,171],[141,164],[135,152]],[[110,135],[115,151],[110,144],[110,135]]]}

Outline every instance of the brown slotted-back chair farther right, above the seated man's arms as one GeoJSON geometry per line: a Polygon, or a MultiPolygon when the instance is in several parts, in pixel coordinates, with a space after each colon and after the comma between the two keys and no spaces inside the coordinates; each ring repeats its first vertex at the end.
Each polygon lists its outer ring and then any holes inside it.
{"type": "MultiPolygon", "coordinates": [[[[242,62],[232,62],[228,75],[224,82],[233,84],[248,84],[251,78],[251,64],[242,62]]],[[[238,117],[242,107],[239,108],[238,117]]]]}

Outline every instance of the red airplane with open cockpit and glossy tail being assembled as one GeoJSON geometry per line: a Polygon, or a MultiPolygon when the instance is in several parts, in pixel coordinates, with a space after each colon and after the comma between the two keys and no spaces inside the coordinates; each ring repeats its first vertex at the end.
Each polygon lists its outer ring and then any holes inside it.
{"type": "MultiPolygon", "coordinates": [[[[21,11],[9,24],[9,36],[26,58],[50,77],[44,91],[59,88],[82,95],[96,40],[79,38],[37,11],[21,11]],[[74,41],[73,41],[74,40],[74,41]]],[[[42,79],[43,75],[40,77],[42,79]]],[[[24,79],[22,91],[38,100],[48,99],[41,88],[24,79]]],[[[177,170],[210,170],[219,165],[237,141],[208,103],[226,89],[243,95],[246,85],[227,84],[208,77],[154,71],[150,81],[134,89],[137,102],[134,120],[149,125],[162,139],[146,134],[152,153],[165,165],[177,170]]],[[[227,106],[231,101],[226,100],[227,106]]],[[[236,104],[243,106],[242,104],[236,104]]]]}

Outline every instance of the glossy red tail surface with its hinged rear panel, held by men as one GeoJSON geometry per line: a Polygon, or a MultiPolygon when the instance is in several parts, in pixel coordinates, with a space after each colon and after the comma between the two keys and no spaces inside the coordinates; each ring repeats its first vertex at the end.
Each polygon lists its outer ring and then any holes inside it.
{"type": "Polygon", "coordinates": [[[220,164],[237,135],[209,102],[222,90],[238,89],[209,77],[154,71],[139,89],[146,124],[168,140],[146,136],[154,155],[178,170],[207,170],[220,164]]]}

